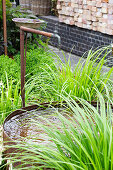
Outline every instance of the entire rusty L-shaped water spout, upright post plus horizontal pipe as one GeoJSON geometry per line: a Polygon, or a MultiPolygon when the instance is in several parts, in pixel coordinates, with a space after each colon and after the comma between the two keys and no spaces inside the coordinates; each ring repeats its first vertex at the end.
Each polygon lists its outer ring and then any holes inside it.
{"type": "MultiPolygon", "coordinates": [[[[24,55],[24,33],[34,33],[38,35],[43,35],[46,37],[56,37],[58,38],[58,42],[60,43],[60,36],[58,34],[44,32],[40,30],[35,30],[27,27],[20,27],[20,55],[21,55],[21,97],[22,97],[22,106],[25,107],[25,71],[26,71],[26,50],[25,48],[25,55],[24,55]]],[[[27,35],[26,35],[27,40],[27,35]]],[[[27,43],[27,41],[26,41],[27,43]]]]}

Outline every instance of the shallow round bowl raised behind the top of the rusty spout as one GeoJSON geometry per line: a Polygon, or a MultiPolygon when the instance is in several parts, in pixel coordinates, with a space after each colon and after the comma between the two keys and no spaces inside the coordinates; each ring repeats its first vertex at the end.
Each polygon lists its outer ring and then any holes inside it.
{"type": "Polygon", "coordinates": [[[41,25],[45,23],[43,20],[39,19],[28,19],[28,18],[13,18],[13,22],[15,22],[17,27],[27,27],[27,28],[39,28],[41,25]]]}

